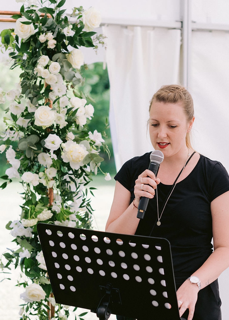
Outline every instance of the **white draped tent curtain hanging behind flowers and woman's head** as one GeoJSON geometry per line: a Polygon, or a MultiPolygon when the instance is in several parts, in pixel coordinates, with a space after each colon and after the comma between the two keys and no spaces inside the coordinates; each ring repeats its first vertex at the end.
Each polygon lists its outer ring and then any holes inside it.
{"type": "Polygon", "coordinates": [[[153,149],[148,108],[154,92],[179,83],[181,30],[104,26],[110,81],[109,121],[116,170],[153,149]]]}

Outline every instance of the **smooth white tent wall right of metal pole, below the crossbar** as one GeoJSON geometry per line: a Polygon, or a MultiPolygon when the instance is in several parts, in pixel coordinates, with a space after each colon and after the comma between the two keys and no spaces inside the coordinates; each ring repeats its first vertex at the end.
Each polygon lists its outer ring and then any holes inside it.
{"type": "Polygon", "coordinates": [[[229,34],[192,32],[191,77],[197,151],[216,159],[229,172],[229,34]]]}

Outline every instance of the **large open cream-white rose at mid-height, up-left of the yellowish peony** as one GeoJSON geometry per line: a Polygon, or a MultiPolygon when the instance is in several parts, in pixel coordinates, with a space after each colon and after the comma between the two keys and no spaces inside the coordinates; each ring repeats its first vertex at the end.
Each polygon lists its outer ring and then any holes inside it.
{"type": "Polygon", "coordinates": [[[48,106],[40,106],[34,113],[35,125],[48,128],[55,121],[56,113],[48,106]]]}

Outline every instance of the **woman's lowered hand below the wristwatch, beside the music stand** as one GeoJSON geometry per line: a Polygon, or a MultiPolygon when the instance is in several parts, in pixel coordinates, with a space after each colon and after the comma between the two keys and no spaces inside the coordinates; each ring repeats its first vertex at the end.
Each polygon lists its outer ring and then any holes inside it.
{"type": "Polygon", "coordinates": [[[197,284],[192,284],[186,280],[176,292],[179,314],[183,315],[186,309],[189,309],[189,316],[187,320],[192,320],[197,301],[199,288],[197,284]]]}

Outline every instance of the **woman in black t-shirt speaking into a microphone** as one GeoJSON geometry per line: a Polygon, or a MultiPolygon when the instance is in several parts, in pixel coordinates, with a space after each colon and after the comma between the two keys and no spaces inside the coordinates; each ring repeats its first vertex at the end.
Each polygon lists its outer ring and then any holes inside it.
{"type": "Polygon", "coordinates": [[[146,169],[150,153],[123,165],[115,176],[106,231],[167,238],[180,316],[221,320],[217,278],[229,266],[228,174],[191,147],[193,101],[184,87],[161,87],[150,102],[149,117],[152,146],[163,152],[164,161],[157,178],[146,169]],[[142,196],[149,203],[140,220],[142,196]]]}

